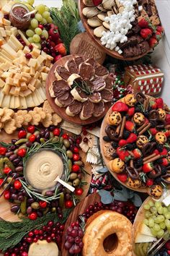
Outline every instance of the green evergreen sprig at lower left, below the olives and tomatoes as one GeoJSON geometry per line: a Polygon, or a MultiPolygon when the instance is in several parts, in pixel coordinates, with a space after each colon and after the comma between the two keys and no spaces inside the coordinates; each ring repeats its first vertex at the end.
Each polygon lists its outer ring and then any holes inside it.
{"type": "Polygon", "coordinates": [[[16,246],[22,238],[33,229],[40,229],[46,225],[48,221],[54,221],[65,223],[71,209],[64,210],[63,219],[60,220],[55,213],[50,213],[41,218],[37,218],[35,221],[31,221],[29,218],[22,218],[22,221],[10,222],[0,221],[0,249],[2,252],[6,252],[7,249],[16,246]]]}

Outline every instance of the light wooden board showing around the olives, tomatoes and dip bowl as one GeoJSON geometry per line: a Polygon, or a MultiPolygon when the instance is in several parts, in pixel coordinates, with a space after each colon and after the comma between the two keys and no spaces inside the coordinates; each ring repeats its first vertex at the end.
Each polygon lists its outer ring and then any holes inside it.
{"type": "MultiPolygon", "coordinates": [[[[67,132],[68,135],[71,135],[71,132],[67,132]]],[[[17,137],[17,131],[14,132],[12,135],[7,135],[6,132],[2,131],[0,132],[0,142],[10,142],[12,138],[17,137]]],[[[80,200],[83,200],[84,197],[86,197],[87,192],[89,191],[90,182],[91,182],[91,165],[90,163],[86,162],[86,153],[84,153],[82,150],[80,150],[80,155],[82,158],[82,161],[84,162],[84,169],[88,174],[84,177],[84,182],[86,182],[86,185],[84,185],[83,189],[84,192],[81,196],[79,196],[80,200]]],[[[0,192],[3,189],[0,189],[0,192]]],[[[21,221],[20,218],[11,212],[11,206],[12,204],[4,199],[4,196],[0,197],[0,218],[3,218],[6,221],[21,221]]]]}

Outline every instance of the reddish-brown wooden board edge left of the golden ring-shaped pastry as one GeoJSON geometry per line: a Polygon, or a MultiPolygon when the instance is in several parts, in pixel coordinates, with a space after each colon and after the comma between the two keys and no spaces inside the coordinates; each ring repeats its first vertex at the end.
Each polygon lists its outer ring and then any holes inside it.
{"type": "Polygon", "coordinates": [[[66,234],[66,230],[68,229],[68,226],[70,226],[72,222],[75,222],[77,217],[82,213],[84,213],[86,208],[88,208],[89,205],[93,205],[94,202],[100,202],[100,196],[98,193],[94,193],[89,195],[88,197],[85,197],[84,200],[82,200],[81,202],[79,202],[78,205],[76,205],[73,212],[68,217],[65,223],[64,231],[63,231],[63,240],[61,245],[62,256],[69,256],[68,250],[64,248],[65,234],[66,234]]]}

